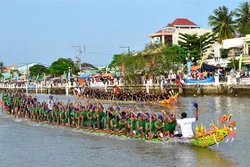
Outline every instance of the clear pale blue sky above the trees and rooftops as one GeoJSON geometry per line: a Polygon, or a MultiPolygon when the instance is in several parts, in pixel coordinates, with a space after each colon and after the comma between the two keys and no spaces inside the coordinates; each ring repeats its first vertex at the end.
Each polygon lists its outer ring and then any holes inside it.
{"type": "Polygon", "coordinates": [[[219,6],[240,0],[0,0],[0,61],[5,65],[60,57],[75,60],[72,46],[85,46],[82,61],[105,66],[123,46],[139,51],[154,33],[176,18],[204,28],[219,6]]]}

